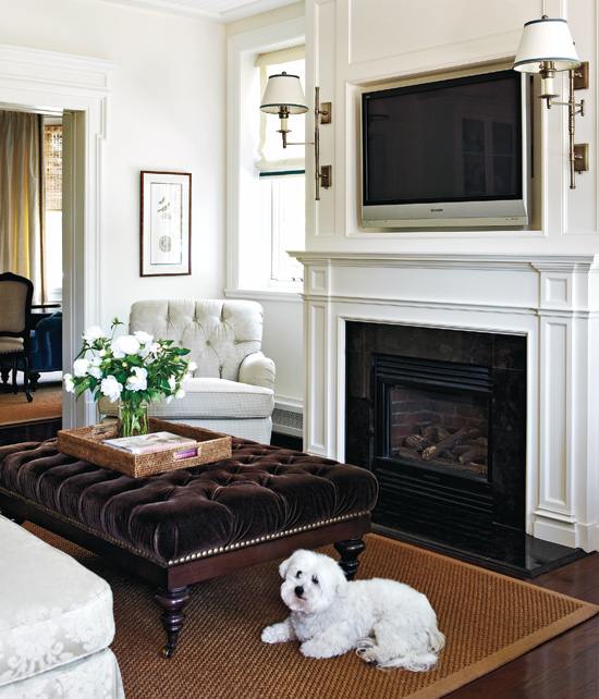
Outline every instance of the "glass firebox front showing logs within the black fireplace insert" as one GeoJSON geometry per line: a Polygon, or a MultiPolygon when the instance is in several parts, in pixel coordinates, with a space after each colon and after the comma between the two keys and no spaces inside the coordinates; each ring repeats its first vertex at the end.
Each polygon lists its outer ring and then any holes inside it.
{"type": "Polygon", "coordinates": [[[379,357],[377,377],[381,456],[487,480],[491,429],[487,368],[379,357]]]}

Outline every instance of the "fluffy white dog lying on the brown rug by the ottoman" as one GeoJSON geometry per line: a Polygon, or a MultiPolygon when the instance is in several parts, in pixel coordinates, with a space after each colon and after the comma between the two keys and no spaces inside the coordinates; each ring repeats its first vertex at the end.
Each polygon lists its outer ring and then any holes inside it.
{"type": "Polygon", "coordinates": [[[267,626],[262,640],[298,640],[308,658],[356,649],[379,667],[430,670],[445,638],[427,598],[407,585],[374,578],[349,582],[333,559],[300,550],[283,561],[281,598],[291,615],[267,626]]]}

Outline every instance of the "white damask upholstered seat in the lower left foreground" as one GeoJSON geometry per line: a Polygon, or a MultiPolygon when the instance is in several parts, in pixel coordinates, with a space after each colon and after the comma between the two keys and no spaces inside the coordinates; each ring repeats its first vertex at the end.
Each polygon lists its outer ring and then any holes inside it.
{"type": "Polygon", "coordinates": [[[124,699],[112,591],[0,515],[0,699],[124,699]]]}

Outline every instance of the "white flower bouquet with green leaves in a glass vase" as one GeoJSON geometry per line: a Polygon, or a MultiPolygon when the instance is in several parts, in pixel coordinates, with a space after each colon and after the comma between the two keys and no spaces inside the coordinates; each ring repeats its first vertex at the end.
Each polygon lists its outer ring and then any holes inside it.
{"type": "Polygon", "coordinates": [[[182,387],[197,365],[185,357],[190,351],[173,346],[172,340],[155,340],[140,331],[114,338],[122,324],[114,318],[110,338],[98,326],[84,332],[73,373],[63,375],[64,389],[76,398],[89,390],[96,401],[102,395],[120,401],[119,437],[146,434],[148,404],[182,398],[182,387]]]}

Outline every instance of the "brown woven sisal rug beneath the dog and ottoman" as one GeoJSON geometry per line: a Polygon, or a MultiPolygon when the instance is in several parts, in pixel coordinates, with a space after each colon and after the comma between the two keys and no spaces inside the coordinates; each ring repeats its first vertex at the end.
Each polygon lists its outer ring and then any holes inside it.
{"type": "MultiPolygon", "coordinates": [[[[277,562],[193,586],[171,660],[154,589],[109,562],[33,525],[34,534],[105,577],[114,594],[119,660],[127,699],[436,699],[598,613],[599,606],[369,535],[358,577],[389,577],[425,592],[445,634],[428,673],[380,671],[355,653],[306,659],[295,642],[260,641],[282,621],[277,562]]],[[[333,554],[332,548],[321,550],[333,554]]]]}

